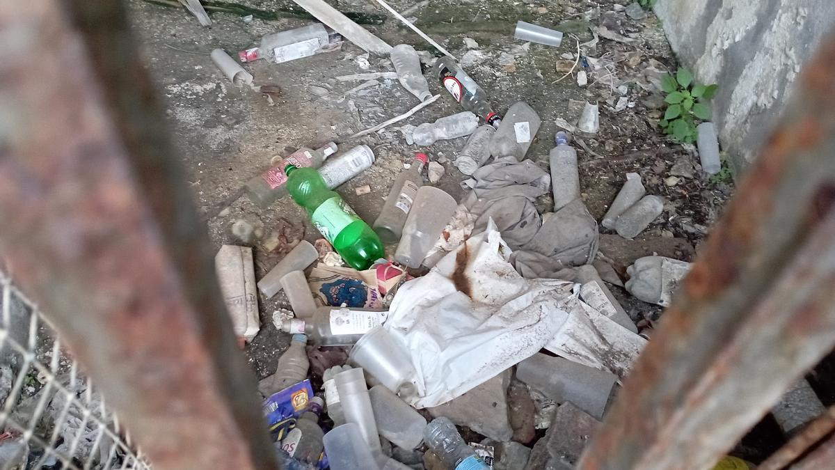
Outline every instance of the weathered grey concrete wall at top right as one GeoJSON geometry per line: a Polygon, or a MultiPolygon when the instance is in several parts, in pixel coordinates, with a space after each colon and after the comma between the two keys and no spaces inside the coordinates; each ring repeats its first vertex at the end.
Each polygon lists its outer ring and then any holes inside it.
{"type": "Polygon", "coordinates": [[[737,167],[756,155],[802,64],[835,28],[835,0],[658,0],[655,13],[681,64],[720,85],[713,118],[737,167]]]}

